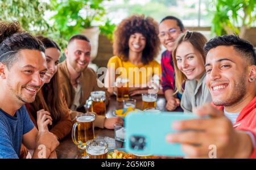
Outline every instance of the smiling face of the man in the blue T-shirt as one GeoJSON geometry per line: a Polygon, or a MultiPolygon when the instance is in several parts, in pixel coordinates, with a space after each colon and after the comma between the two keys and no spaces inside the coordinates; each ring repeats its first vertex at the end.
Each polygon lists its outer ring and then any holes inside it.
{"type": "Polygon", "coordinates": [[[6,69],[6,86],[19,103],[32,103],[44,84],[47,71],[46,57],[39,50],[20,50],[19,58],[6,69]]]}

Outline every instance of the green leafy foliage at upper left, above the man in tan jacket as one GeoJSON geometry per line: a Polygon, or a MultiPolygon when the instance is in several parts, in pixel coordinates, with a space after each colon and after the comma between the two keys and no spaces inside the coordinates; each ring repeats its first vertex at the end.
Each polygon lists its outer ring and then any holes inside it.
{"type": "Polygon", "coordinates": [[[1,0],[0,20],[17,20],[24,30],[50,37],[63,49],[72,35],[88,27],[99,26],[101,34],[111,39],[115,25],[104,18],[104,1],[108,0],[1,0]],[[50,20],[44,17],[46,11],[54,12],[50,20]]]}

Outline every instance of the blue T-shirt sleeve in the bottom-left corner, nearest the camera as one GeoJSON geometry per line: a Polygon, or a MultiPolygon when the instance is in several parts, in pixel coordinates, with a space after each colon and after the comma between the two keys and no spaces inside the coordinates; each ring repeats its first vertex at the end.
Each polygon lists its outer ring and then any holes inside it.
{"type": "Polygon", "coordinates": [[[6,126],[0,119],[0,159],[18,159],[6,126]]]}

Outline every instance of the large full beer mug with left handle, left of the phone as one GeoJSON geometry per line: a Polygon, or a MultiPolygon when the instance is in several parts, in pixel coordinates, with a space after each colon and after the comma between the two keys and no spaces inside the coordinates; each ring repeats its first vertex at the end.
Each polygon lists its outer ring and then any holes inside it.
{"type": "Polygon", "coordinates": [[[93,113],[85,113],[76,117],[76,123],[72,129],[72,140],[81,150],[85,150],[87,141],[95,138],[94,120],[95,114],[93,113]]]}

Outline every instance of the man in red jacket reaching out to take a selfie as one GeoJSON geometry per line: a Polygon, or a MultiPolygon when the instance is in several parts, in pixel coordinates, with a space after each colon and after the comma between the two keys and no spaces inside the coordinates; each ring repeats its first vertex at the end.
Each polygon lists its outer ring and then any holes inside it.
{"type": "Polygon", "coordinates": [[[175,122],[167,142],[181,143],[186,158],[256,158],[256,64],[250,42],[234,35],[215,37],[205,45],[206,84],[213,104],[194,109],[197,120],[175,122]]]}

